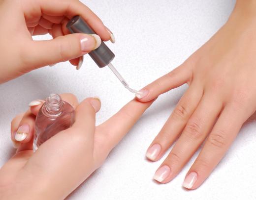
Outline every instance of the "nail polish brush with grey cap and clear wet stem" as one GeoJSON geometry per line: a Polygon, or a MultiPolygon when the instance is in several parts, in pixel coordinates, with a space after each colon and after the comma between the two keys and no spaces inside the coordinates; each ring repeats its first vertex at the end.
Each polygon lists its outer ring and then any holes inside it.
{"type": "MultiPolygon", "coordinates": [[[[83,20],[80,16],[73,17],[66,25],[67,29],[71,33],[86,33],[86,34],[96,34],[93,29],[83,20]]],[[[106,46],[106,44],[101,41],[101,45],[96,49],[92,50],[89,55],[94,60],[99,68],[108,66],[111,71],[117,76],[121,83],[127,88],[131,93],[139,94],[137,90],[129,87],[126,80],[119,74],[116,68],[112,65],[112,60],[115,54],[106,46]]]]}

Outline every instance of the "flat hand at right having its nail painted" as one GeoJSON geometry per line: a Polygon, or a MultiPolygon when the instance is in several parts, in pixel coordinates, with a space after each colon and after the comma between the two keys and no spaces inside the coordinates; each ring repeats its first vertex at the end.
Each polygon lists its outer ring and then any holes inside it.
{"type": "Polygon", "coordinates": [[[146,86],[146,102],[185,83],[178,102],[147,157],[159,160],[159,182],[171,181],[205,141],[183,186],[198,188],[224,157],[243,123],[256,111],[256,1],[237,0],[227,23],[181,66],[146,86]]]}

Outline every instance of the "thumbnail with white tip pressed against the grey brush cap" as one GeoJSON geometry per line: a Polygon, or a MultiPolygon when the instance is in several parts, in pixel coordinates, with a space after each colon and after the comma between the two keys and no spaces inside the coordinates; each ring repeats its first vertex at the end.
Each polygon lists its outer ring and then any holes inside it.
{"type": "Polygon", "coordinates": [[[96,34],[85,35],[81,40],[81,50],[90,51],[97,49],[101,44],[101,39],[96,34]]]}

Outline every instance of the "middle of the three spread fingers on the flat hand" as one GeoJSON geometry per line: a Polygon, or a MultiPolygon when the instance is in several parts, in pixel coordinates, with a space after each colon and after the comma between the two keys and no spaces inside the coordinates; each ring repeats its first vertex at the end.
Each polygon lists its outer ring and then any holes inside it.
{"type": "Polygon", "coordinates": [[[203,143],[222,109],[217,97],[204,95],[154,179],[162,183],[172,180],[203,143]]]}

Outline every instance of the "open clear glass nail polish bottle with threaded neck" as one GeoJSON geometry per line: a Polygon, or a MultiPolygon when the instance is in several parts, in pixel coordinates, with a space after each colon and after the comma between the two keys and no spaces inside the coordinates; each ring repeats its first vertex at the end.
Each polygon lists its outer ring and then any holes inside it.
{"type": "Polygon", "coordinates": [[[40,108],[35,119],[33,150],[58,132],[69,128],[75,122],[75,111],[72,105],[52,94],[40,108]]]}

